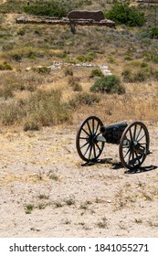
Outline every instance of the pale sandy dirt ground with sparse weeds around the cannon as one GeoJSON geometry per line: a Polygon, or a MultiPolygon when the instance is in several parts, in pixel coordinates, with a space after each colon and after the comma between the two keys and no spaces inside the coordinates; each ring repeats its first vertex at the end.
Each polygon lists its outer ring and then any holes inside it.
{"type": "Polygon", "coordinates": [[[84,165],[77,126],[0,131],[0,237],[157,237],[158,130],[140,170],[120,165],[118,145],[84,165]]]}

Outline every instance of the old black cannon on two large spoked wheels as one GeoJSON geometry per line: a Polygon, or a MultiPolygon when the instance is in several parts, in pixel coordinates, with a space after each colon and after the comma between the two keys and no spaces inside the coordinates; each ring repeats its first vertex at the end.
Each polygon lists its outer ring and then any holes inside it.
{"type": "Polygon", "coordinates": [[[97,162],[105,144],[119,144],[121,164],[128,169],[140,167],[150,154],[150,137],[144,123],[103,125],[96,116],[86,118],[79,125],[76,135],[80,158],[85,162],[97,162]]]}

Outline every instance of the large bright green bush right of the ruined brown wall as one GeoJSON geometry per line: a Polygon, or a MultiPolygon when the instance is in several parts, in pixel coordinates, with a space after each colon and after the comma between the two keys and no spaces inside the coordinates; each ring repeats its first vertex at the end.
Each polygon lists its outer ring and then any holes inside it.
{"type": "Polygon", "coordinates": [[[114,4],[105,16],[113,20],[117,25],[124,24],[130,27],[141,27],[145,23],[144,14],[140,12],[139,8],[129,6],[126,3],[114,4]]]}

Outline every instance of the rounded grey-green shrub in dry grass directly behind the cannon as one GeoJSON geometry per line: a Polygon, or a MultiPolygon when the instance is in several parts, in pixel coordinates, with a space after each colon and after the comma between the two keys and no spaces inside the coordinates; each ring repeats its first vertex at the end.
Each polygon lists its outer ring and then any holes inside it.
{"type": "Polygon", "coordinates": [[[118,77],[109,75],[97,80],[90,87],[90,91],[122,94],[125,92],[125,89],[121,85],[121,80],[118,77]]]}

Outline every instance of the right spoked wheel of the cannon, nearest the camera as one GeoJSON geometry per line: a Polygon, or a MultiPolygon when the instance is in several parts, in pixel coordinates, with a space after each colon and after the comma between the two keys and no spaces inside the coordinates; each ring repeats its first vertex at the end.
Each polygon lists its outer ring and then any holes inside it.
{"type": "Polygon", "coordinates": [[[134,122],[121,135],[121,164],[132,169],[140,167],[149,154],[149,133],[144,123],[134,122]]]}

